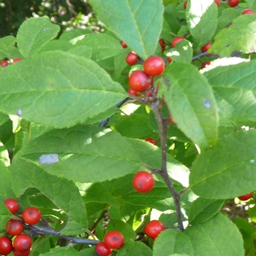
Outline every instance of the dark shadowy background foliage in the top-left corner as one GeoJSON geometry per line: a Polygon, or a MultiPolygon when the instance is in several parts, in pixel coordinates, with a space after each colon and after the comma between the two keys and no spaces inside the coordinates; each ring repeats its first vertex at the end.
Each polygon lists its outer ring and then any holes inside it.
{"type": "Polygon", "coordinates": [[[15,36],[24,20],[48,15],[61,31],[72,27],[99,30],[86,0],[0,0],[0,37],[15,36]]]}

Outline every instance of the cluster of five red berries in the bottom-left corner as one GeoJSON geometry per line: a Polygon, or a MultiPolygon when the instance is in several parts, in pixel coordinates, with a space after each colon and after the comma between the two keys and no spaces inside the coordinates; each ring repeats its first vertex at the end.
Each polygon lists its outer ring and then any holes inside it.
{"type": "MultiPolygon", "coordinates": [[[[12,214],[16,214],[19,209],[18,202],[13,198],[4,200],[12,214]]],[[[38,208],[29,207],[22,213],[22,217],[9,219],[6,224],[6,230],[9,236],[0,237],[0,255],[9,255],[11,252],[15,256],[27,256],[30,254],[32,239],[24,231],[24,224],[34,225],[41,219],[41,212],[38,208]]]]}

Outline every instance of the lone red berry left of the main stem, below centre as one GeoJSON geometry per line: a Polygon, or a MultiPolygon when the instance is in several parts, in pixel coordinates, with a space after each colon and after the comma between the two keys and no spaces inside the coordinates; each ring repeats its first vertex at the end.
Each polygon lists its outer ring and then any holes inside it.
{"type": "Polygon", "coordinates": [[[140,193],[149,192],[154,187],[154,178],[151,173],[141,170],[133,177],[132,186],[140,193]]]}

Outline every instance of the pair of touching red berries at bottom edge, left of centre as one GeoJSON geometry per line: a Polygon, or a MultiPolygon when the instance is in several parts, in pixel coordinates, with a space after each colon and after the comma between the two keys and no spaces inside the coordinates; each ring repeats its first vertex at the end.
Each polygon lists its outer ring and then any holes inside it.
{"type": "Polygon", "coordinates": [[[113,249],[120,249],[124,245],[124,236],[122,233],[111,230],[106,233],[104,241],[95,246],[95,252],[99,256],[109,256],[113,249]]]}

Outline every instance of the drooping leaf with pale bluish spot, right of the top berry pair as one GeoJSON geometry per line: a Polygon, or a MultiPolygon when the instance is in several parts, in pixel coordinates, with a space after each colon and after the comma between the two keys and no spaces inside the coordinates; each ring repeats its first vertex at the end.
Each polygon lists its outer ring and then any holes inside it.
{"type": "Polygon", "coordinates": [[[178,129],[201,149],[214,146],[219,120],[217,104],[210,85],[197,68],[181,63],[168,66],[162,93],[178,129]]]}

